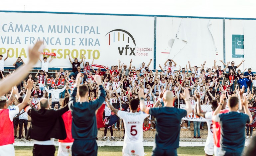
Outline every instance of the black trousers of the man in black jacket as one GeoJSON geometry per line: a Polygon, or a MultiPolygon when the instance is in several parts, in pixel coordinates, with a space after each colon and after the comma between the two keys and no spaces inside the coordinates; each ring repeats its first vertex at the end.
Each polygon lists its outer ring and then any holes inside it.
{"type": "Polygon", "coordinates": [[[33,156],[54,156],[55,146],[34,144],[32,153],[33,156]]]}

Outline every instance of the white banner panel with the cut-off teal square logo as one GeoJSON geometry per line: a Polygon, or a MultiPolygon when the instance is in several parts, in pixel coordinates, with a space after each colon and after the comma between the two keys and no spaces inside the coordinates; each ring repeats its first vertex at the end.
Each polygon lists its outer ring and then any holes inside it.
{"type": "MultiPolygon", "coordinates": [[[[244,59],[244,20],[225,20],[225,47],[225,63],[234,61],[237,66],[244,59]]],[[[245,69],[244,63],[238,69],[245,69]]]]}

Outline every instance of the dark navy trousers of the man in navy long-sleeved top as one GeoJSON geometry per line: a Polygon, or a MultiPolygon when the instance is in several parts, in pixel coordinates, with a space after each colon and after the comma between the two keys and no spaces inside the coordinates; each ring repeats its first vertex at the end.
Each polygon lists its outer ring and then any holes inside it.
{"type": "Polygon", "coordinates": [[[98,146],[95,139],[77,140],[72,145],[72,156],[97,156],[98,146]]]}

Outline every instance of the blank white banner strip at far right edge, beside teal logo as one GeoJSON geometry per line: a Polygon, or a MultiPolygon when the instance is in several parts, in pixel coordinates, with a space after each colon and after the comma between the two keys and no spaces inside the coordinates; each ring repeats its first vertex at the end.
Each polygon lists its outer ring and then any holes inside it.
{"type": "Polygon", "coordinates": [[[256,58],[255,27],[255,20],[244,20],[244,68],[246,68],[246,71],[248,68],[252,68],[254,72],[256,71],[256,64],[253,63],[256,58]]]}

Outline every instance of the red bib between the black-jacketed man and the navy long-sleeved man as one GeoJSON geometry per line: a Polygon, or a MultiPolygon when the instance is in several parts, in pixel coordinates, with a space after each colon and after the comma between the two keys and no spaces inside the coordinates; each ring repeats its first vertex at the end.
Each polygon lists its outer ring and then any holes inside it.
{"type": "Polygon", "coordinates": [[[59,140],[59,142],[74,142],[74,139],[72,137],[72,132],[71,132],[71,125],[72,125],[72,115],[71,111],[67,111],[62,115],[64,125],[65,125],[65,130],[67,137],[64,140],[59,140]]]}

